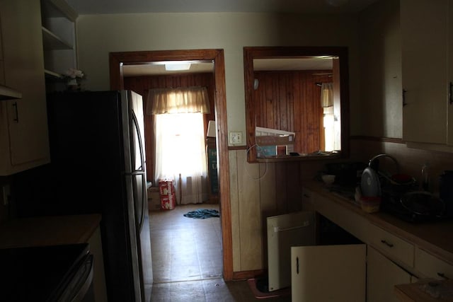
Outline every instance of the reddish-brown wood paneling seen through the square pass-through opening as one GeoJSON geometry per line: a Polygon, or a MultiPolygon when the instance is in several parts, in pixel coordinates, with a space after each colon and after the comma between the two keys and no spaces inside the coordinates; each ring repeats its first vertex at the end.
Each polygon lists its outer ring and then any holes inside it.
{"type": "Polygon", "coordinates": [[[332,78],[314,74],[326,72],[331,71],[256,71],[256,125],[295,132],[294,151],[299,153],[323,150],[321,87],[316,83],[332,78]]]}

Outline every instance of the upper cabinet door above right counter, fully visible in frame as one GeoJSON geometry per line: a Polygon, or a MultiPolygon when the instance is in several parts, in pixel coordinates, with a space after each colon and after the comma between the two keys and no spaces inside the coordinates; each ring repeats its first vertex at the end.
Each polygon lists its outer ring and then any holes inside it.
{"type": "Polygon", "coordinates": [[[401,0],[403,139],[447,143],[448,0],[401,0]]]}

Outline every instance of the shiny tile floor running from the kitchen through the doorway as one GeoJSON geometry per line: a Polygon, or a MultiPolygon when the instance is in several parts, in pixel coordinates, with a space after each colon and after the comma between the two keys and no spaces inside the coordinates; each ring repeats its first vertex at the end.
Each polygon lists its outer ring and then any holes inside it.
{"type": "Polygon", "coordinates": [[[245,280],[223,281],[220,220],[183,216],[195,209],[218,209],[218,205],[190,204],[150,212],[154,274],[151,301],[258,301],[245,280]]]}

